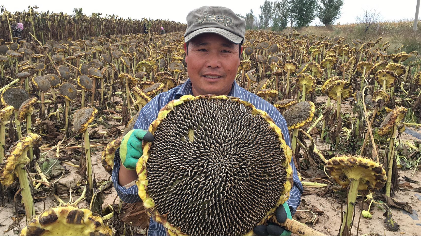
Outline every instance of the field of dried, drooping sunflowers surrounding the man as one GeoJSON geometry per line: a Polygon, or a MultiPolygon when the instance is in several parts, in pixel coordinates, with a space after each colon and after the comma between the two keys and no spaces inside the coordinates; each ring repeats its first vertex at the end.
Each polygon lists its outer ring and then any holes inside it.
{"type": "MultiPolygon", "coordinates": [[[[5,234],[146,235],[155,208],[147,207],[151,201],[119,200],[110,180],[115,152],[138,112],[189,78],[186,26],[149,22],[152,30],[143,34],[143,21],[117,16],[3,11],[5,234]],[[10,38],[12,21],[24,22],[22,40],[10,38]],[[161,26],[167,34],[158,34],[161,26]]],[[[246,31],[242,46],[236,82],[276,107],[290,131],[292,147],[283,148],[296,163],[305,199],[294,220],[319,235],[418,233],[418,52],[389,49],[382,38],[298,32],[246,31]]],[[[137,173],[139,189],[147,191],[145,170],[137,173]]]]}

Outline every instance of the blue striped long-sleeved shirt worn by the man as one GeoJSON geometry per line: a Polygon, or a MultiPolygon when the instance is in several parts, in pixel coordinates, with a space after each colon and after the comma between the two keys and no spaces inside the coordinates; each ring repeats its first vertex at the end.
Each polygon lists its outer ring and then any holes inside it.
{"type": "MultiPolygon", "coordinates": [[[[133,129],[142,129],[148,130],[149,125],[157,118],[158,112],[162,109],[168,102],[179,99],[182,95],[193,94],[192,93],[192,83],[190,79],[186,81],[186,83],[177,86],[165,93],[158,94],[155,98],[153,98],[146,106],[144,106],[139,114],[139,118],[136,120],[133,129]]],[[[243,101],[248,101],[253,104],[257,109],[260,109],[267,114],[274,120],[275,124],[280,127],[282,134],[285,138],[285,142],[288,146],[291,146],[290,134],[288,131],[287,123],[285,122],[284,117],[280,114],[280,112],[269,102],[261,99],[254,93],[250,93],[249,91],[245,90],[238,86],[238,84],[234,81],[232,84],[231,91],[229,96],[237,97],[243,101]]],[[[125,188],[118,184],[118,174],[120,171],[120,155],[119,149],[116,150],[115,159],[114,159],[114,169],[112,171],[112,182],[114,183],[114,187],[117,190],[117,195],[123,200],[123,202],[133,203],[140,201],[140,197],[138,195],[138,188],[137,185],[133,185],[129,188],[125,188]]],[[[303,193],[303,186],[301,181],[298,179],[297,169],[294,165],[293,160],[291,160],[291,167],[293,169],[293,187],[290,191],[290,197],[287,201],[288,205],[290,206],[291,214],[296,212],[296,208],[300,205],[301,202],[301,194],[303,193]]],[[[152,218],[149,222],[149,231],[148,235],[166,235],[166,230],[163,225],[155,222],[152,218]]]]}

